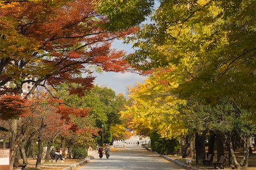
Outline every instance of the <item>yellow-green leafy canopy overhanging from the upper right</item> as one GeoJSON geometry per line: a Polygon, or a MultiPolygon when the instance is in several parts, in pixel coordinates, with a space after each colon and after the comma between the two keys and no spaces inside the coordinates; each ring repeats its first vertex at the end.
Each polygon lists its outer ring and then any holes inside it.
{"type": "Polygon", "coordinates": [[[135,68],[166,68],[172,93],[198,101],[234,98],[255,110],[256,1],[161,1],[133,40],[135,68]]]}

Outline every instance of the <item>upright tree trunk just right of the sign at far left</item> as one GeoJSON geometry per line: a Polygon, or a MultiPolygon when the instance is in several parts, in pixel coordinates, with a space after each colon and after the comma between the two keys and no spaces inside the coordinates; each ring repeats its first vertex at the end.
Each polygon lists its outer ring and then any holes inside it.
{"type": "Polygon", "coordinates": [[[9,147],[11,149],[10,170],[13,170],[13,165],[16,157],[16,150],[18,148],[18,144],[16,142],[17,128],[18,128],[18,120],[11,119],[10,140],[9,140],[9,147]]]}

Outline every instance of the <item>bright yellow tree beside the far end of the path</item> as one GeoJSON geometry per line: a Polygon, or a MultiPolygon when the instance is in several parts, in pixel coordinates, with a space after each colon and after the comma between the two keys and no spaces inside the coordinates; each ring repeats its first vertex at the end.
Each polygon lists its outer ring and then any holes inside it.
{"type": "Polygon", "coordinates": [[[143,84],[130,88],[130,103],[121,114],[123,119],[131,117],[129,127],[140,135],[150,135],[154,130],[167,139],[187,134],[177,107],[185,101],[168,92],[176,83],[165,76],[163,70],[155,72],[143,84]]]}

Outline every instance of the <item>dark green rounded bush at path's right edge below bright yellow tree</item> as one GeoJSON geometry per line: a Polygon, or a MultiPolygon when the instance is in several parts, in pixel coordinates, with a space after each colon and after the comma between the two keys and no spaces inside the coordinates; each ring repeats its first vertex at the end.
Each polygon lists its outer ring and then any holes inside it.
{"type": "Polygon", "coordinates": [[[154,131],[150,135],[152,151],[156,151],[159,154],[170,155],[177,151],[180,144],[177,139],[164,139],[160,138],[160,135],[154,131]]]}

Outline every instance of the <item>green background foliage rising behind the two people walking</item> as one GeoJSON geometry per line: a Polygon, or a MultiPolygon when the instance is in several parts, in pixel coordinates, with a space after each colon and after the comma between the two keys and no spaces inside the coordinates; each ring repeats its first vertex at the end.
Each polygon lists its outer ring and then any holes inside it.
{"type": "Polygon", "coordinates": [[[85,131],[77,136],[77,141],[80,146],[92,145],[96,138],[102,142],[102,125],[104,125],[104,143],[112,141],[112,132],[110,126],[120,123],[119,111],[126,102],[122,94],[115,96],[115,92],[109,88],[101,88],[94,86],[89,91],[84,91],[84,96],[69,95],[67,84],[59,86],[59,94],[68,105],[79,109],[90,109],[89,117],[76,118],[72,117],[72,121],[76,122],[79,128],[84,128],[85,131]],[[93,132],[93,135],[90,135],[93,132]],[[96,135],[97,132],[100,136],[96,135]]]}

